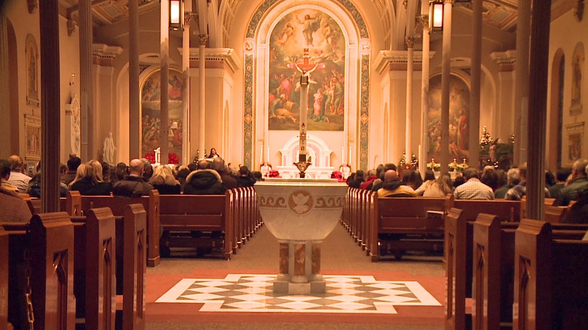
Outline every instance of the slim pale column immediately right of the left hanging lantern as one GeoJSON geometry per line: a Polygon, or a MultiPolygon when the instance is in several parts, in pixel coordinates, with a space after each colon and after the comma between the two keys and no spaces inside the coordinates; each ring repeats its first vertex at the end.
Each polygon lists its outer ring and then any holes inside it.
{"type": "Polygon", "coordinates": [[[190,21],[192,19],[192,1],[184,2],[184,26],[182,33],[182,164],[190,163],[190,21]]]}

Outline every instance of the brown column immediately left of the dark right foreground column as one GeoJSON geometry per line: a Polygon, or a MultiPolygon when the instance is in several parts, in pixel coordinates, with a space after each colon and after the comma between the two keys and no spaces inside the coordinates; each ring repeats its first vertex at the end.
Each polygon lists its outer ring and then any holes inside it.
{"type": "Polygon", "coordinates": [[[530,23],[531,0],[519,0],[516,22],[515,62],[515,164],[522,164],[527,161],[530,23]]]}

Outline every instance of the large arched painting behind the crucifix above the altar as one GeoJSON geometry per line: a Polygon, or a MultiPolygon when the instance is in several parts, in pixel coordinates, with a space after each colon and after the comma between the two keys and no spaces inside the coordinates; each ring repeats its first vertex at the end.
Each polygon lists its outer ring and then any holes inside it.
{"type": "Polygon", "coordinates": [[[272,31],[269,50],[269,129],[298,130],[300,72],[289,63],[310,63],[325,69],[310,73],[308,129],[342,131],[345,123],[345,36],[328,14],[299,9],[284,16],[272,31]]]}

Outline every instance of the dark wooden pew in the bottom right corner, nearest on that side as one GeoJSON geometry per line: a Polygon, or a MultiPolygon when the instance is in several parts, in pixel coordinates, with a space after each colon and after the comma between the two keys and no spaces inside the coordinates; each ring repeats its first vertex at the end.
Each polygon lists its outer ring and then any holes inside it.
{"type": "Polygon", "coordinates": [[[553,239],[522,220],[515,240],[513,329],[581,329],[588,321],[588,241],[553,239]]]}

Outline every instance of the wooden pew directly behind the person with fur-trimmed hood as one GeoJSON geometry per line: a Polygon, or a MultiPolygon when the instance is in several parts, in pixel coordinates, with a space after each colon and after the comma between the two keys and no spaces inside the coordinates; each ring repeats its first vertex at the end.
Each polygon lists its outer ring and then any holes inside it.
{"type": "MultiPolygon", "coordinates": [[[[169,232],[191,231],[224,231],[225,237],[194,238],[192,235],[179,235],[169,233],[162,237],[162,247],[216,247],[223,246],[223,257],[230,260],[233,253],[232,236],[233,223],[227,215],[237,213],[240,221],[237,222],[239,237],[246,240],[249,233],[249,213],[251,207],[246,204],[245,190],[237,188],[236,196],[240,199],[231,199],[225,195],[162,195],[160,197],[160,221],[163,230],[169,232]],[[230,203],[238,203],[239,207],[231,212],[230,203]],[[245,237],[243,237],[245,235],[245,237]]],[[[249,234],[250,235],[250,234],[249,234]]]]}

